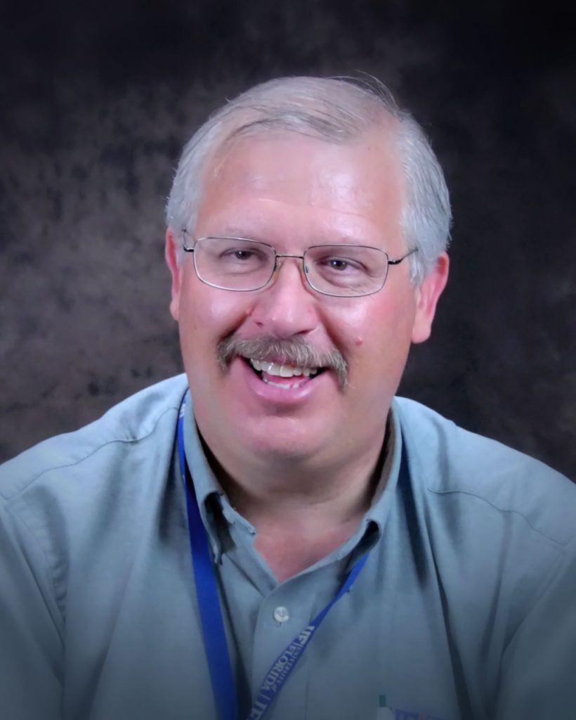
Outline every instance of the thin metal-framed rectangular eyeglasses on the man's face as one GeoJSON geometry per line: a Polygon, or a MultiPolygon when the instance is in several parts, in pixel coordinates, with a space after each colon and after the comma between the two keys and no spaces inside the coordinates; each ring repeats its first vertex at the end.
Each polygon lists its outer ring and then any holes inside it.
{"type": "Polygon", "coordinates": [[[303,255],[285,255],[248,238],[198,238],[189,246],[186,235],[183,230],[183,249],[193,253],[198,279],[234,292],[266,287],[280,268],[278,259],[294,258],[302,261],[306,282],[316,292],[334,297],[371,295],[383,288],[390,265],[398,265],[418,249],[394,260],[380,248],[364,245],[314,245],[303,255]]]}

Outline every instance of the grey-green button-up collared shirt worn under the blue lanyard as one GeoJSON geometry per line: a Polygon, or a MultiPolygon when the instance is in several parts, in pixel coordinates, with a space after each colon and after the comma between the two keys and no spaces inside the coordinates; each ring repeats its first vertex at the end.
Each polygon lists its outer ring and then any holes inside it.
{"type": "MultiPolygon", "coordinates": [[[[157,384],[0,468],[3,717],[214,718],[175,454],[184,392],[157,384]]],[[[242,708],[368,544],[270,720],[572,719],[576,488],[417,403],[392,418],[357,534],[282,583],[187,423],[242,708]]]]}

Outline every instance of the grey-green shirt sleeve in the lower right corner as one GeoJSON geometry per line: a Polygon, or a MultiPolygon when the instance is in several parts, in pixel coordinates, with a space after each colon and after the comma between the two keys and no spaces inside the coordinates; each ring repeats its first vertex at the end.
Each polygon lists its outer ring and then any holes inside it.
{"type": "Polygon", "coordinates": [[[564,548],[508,644],[498,720],[576,718],[575,551],[564,548]]]}

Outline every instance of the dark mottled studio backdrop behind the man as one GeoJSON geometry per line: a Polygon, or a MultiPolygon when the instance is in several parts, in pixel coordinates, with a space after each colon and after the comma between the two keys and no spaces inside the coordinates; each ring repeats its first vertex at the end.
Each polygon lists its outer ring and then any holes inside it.
{"type": "Polygon", "coordinates": [[[0,10],[0,459],[180,372],[180,148],[273,76],[373,73],[452,191],[452,277],[401,387],[576,477],[576,53],[545,3],[210,0],[0,10]]]}

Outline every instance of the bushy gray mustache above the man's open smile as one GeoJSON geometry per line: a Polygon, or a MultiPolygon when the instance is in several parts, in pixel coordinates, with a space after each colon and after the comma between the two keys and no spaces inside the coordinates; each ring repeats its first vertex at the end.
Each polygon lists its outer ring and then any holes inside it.
{"type": "Polygon", "coordinates": [[[218,364],[222,370],[226,371],[230,361],[237,355],[262,361],[278,357],[296,367],[332,369],[337,374],[341,390],[344,390],[348,382],[348,366],[337,348],[325,353],[301,337],[280,340],[262,336],[242,340],[235,335],[229,335],[218,343],[218,364]]]}

